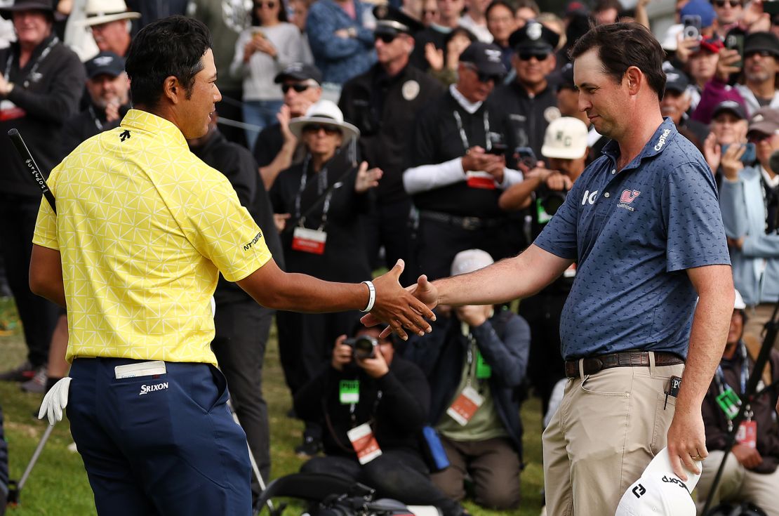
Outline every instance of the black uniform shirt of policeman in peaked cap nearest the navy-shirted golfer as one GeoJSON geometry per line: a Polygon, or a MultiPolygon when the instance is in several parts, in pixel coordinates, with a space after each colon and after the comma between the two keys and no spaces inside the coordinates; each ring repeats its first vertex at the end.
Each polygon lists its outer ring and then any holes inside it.
{"type": "Polygon", "coordinates": [[[531,97],[515,80],[496,86],[487,102],[499,107],[508,116],[514,145],[530,147],[539,160],[543,159],[541,145],[546,127],[560,115],[555,90],[547,86],[540,94],[531,97]]]}

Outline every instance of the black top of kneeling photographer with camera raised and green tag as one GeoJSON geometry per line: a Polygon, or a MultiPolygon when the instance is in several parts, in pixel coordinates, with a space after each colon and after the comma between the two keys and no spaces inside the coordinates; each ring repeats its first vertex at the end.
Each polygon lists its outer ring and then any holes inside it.
{"type": "Polygon", "coordinates": [[[294,397],[294,410],[299,418],[325,420],[322,439],[325,454],[347,457],[354,456],[347,431],[369,421],[382,450],[405,449],[418,453],[419,433],[429,406],[430,390],[425,375],[397,353],[390,372],[378,380],[361,369],[340,372],[327,364],[294,397]],[[354,408],[352,424],[350,405],[341,405],[338,399],[338,384],[340,380],[355,378],[360,380],[360,401],[354,408]]]}

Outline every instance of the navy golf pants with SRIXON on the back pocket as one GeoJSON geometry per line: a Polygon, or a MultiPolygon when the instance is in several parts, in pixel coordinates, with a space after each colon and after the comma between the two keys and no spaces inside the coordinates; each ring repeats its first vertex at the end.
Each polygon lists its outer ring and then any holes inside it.
{"type": "Polygon", "coordinates": [[[166,362],[157,377],[115,378],[131,359],[75,359],[68,419],[97,513],[249,516],[246,435],[209,364],[166,362]]]}

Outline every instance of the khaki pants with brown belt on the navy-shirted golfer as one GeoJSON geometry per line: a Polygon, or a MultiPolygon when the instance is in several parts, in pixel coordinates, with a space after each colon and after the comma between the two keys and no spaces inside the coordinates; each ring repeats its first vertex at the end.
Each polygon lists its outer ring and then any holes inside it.
{"type": "MultiPolygon", "coordinates": [[[[654,364],[654,354],[651,362],[654,364]]],[[[550,516],[614,514],[622,493],[666,444],[684,365],[614,367],[568,380],[542,437],[550,516]]]]}

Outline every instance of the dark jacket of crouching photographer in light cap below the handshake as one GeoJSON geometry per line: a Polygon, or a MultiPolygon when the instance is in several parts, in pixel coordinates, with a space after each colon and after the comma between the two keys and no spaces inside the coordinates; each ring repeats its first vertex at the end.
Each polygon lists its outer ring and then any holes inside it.
{"type": "MultiPolygon", "coordinates": [[[[420,366],[428,378],[429,422],[435,425],[451,405],[460,384],[468,341],[456,316],[439,316],[432,326],[432,333],[409,338],[404,356],[420,366]]],[[[508,310],[496,310],[490,320],[471,332],[485,362],[492,367],[492,376],[487,381],[495,409],[522,458],[520,402],[530,352],[530,327],[522,317],[508,310]]]]}

